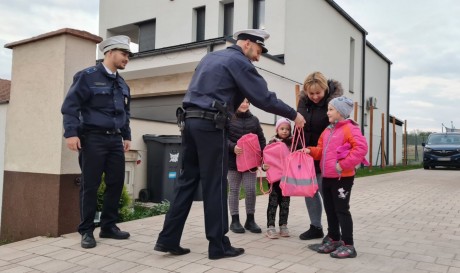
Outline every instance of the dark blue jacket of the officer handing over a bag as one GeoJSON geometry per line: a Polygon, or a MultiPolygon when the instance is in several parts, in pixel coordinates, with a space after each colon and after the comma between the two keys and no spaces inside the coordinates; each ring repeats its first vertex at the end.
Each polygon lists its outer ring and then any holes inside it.
{"type": "Polygon", "coordinates": [[[291,120],[296,111],[268,91],[267,82],[243,54],[241,47],[232,45],[207,54],[193,74],[183,107],[199,107],[216,111],[213,101],[227,106],[233,114],[247,98],[254,106],[291,120]]]}

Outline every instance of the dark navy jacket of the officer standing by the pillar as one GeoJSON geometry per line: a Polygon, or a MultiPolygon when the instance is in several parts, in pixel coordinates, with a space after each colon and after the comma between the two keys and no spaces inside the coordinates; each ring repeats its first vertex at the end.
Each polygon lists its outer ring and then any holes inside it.
{"type": "Polygon", "coordinates": [[[119,129],[123,139],[131,140],[130,99],[125,80],[109,74],[102,63],[77,72],[61,108],[64,137],[78,136],[80,129],[119,129]]]}

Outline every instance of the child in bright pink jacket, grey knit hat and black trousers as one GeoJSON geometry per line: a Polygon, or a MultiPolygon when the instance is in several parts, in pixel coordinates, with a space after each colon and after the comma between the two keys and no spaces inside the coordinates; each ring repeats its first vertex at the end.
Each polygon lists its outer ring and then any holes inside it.
{"type": "Polygon", "coordinates": [[[349,98],[332,99],[327,109],[330,125],[321,134],[318,146],[305,149],[315,160],[321,160],[323,203],[328,224],[328,234],[315,250],[330,253],[333,258],[354,258],[357,255],[350,195],[355,166],[365,160],[367,142],[357,124],[348,119],[352,110],[353,101],[349,98]]]}

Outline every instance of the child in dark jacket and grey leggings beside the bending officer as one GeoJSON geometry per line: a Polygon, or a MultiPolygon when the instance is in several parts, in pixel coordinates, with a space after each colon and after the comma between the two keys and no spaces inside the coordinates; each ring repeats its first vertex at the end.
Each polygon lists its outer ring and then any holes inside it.
{"type": "Polygon", "coordinates": [[[244,233],[245,229],[253,233],[261,233],[262,230],[254,220],[256,207],[256,170],[239,172],[236,166],[236,157],[244,151],[236,145],[238,139],[248,133],[256,134],[259,139],[261,150],[265,148],[266,140],[260,126],[259,119],[249,111],[250,103],[245,99],[233,115],[229,124],[228,134],[228,206],[232,222],[230,230],[235,233],[244,233]],[[240,223],[239,197],[241,184],[246,194],[246,223],[244,228],[240,223]]]}

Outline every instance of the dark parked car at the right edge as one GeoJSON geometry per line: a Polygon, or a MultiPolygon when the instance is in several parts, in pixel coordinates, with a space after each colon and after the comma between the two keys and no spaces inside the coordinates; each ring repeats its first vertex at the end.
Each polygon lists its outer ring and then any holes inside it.
{"type": "Polygon", "coordinates": [[[423,146],[423,168],[460,168],[460,133],[432,133],[423,146]]]}

